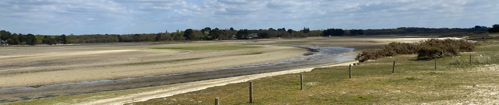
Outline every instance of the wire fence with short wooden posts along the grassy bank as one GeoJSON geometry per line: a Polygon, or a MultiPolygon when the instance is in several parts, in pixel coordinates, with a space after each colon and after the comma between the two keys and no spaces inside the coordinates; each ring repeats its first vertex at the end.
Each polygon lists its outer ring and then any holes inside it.
{"type": "MultiPolygon", "coordinates": [[[[453,59],[453,58],[442,58],[442,59],[438,59],[438,60],[445,60],[445,59],[453,59]]],[[[432,61],[432,60],[435,61],[435,70],[436,70],[437,69],[437,59],[416,60],[416,61],[401,61],[401,62],[394,61],[393,62],[393,71],[392,71],[392,73],[395,73],[395,68],[396,68],[395,66],[396,66],[397,63],[419,62],[419,61],[432,61]]],[[[472,60],[473,60],[472,59],[472,55],[470,55],[470,65],[473,65],[472,60]]],[[[391,64],[391,63],[377,63],[377,64],[391,64]]],[[[224,97],[222,99],[215,98],[215,105],[220,105],[220,101],[221,100],[223,100],[223,99],[225,99],[225,98],[227,98],[229,96],[232,96],[234,94],[237,94],[237,93],[239,93],[239,92],[241,92],[243,90],[246,90],[248,88],[250,88],[250,101],[249,101],[249,103],[252,103],[252,87],[253,86],[257,86],[257,85],[261,85],[261,84],[266,84],[266,83],[271,83],[271,82],[276,82],[276,81],[281,81],[281,80],[287,80],[287,79],[296,78],[296,77],[300,77],[300,89],[303,90],[303,75],[311,75],[311,74],[315,74],[315,73],[321,73],[321,72],[326,72],[326,71],[331,71],[331,70],[336,70],[336,69],[343,69],[343,68],[347,68],[347,67],[349,67],[349,72],[350,72],[349,73],[349,78],[351,78],[351,74],[352,74],[351,67],[352,67],[352,65],[349,65],[349,66],[346,66],[346,67],[340,67],[340,68],[335,68],[335,69],[316,71],[316,72],[312,72],[312,73],[308,73],[308,74],[302,74],[302,73],[300,73],[299,76],[291,76],[291,77],[287,77],[287,78],[283,78],[283,79],[278,79],[278,80],[274,80],[274,81],[269,81],[269,82],[264,82],[264,83],[259,83],[259,84],[255,84],[255,85],[252,85],[252,82],[250,81],[250,86],[248,86],[248,87],[245,87],[245,88],[243,88],[243,89],[241,89],[241,90],[239,90],[239,91],[237,91],[235,93],[232,93],[232,94],[230,94],[230,95],[228,95],[228,96],[226,96],[226,97],[224,97]]]]}

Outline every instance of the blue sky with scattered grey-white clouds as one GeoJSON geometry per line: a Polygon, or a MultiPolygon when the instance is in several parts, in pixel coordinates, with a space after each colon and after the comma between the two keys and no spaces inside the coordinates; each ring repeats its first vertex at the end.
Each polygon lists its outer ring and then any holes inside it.
{"type": "Polygon", "coordinates": [[[0,0],[0,7],[0,30],[43,35],[499,24],[498,0],[0,0]]]}

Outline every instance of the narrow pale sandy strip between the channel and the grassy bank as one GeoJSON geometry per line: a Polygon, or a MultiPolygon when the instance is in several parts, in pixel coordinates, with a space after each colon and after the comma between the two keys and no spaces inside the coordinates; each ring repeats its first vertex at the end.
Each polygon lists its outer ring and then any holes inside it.
{"type": "MultiPolygon", "coordinates": [[[[334,64],[334,65],[329,65],[329,66],[322,66],[322,67],[345,66],[345,65],[353,64],[353,63],[357,63],[357,61],[344,62],[344,63],[334,64]]],[[[314,67],[314,68],[320,68],[320,67],[314,67]]],[[[102,96],[95,95],[95,96],[90,97],[90,98],[80,98],[80,99],[73,100],[73,101],[82,102],[82,103],[78,103],[78,104],[76,104],[76,103],[72,103],[72,104],[59,103],[57,105],[123,105],[126,103],[147,101],[149,99],[163,98],[163,97],[169,97],[169,96],[173,96],[173,95],[177,95],[177,94],[203,90],[203,89],[210,88],[210,87],[224,86],[224,85],[233,84],[233,83],[241,83],[241,82],[246,82],[249,80],[263,78],[263,77],[270,77],[270,76],[290,74],[290,73],[308,72],[314,68],[296,69],[296,70],[263,73],[263,74],[256,74],[256,75],[215,79],[215,80],[206,80],[206,81],[198,81],[198,82],[190,82],[190,83],[182,83],[182,84],[174,84],[174,85],[166,85],[166,86],[130,89],[130,90],[123,90],[123,91],[104,92],[105,95],[102,95],[102,96]],[[129,93],[129,94],[117,95],[114,93],[129,93]],[[113,96],[109,96],[110,94],[112,94],[113,96]],[[96,99],[96,98],[98,98],[98,99],[96,99]]]]}

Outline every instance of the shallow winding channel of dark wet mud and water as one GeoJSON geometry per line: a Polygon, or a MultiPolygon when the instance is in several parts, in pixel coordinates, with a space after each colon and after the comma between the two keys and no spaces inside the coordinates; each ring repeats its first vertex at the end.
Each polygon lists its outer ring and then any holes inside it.
{"type": "Polygon", "coordinates": [[[106,91],[127,90],[144,87],[154,87],[170,84],[188,83],[203,80],[213,80],[228,77],[237,77],[309,67],[325,66],[350,61],[354,56],[343,56],[342,53],[352,52],[351,48],[317,47],[301,45],[273,45],[290,46],[309,49],[309,53],[302,57],[281,60],[277,63],[264,62],[255,65],[238,65],[223,67],[215,70],[191,72],[184,74],[170,74],[160,76],[145,76],[140,78],[126,78],[118,80],[98,80],[78,83],[66,83],[33,87],[13,87],[0,89],[0,103],[50,98],[56,96],[97,93],[106,91]],[[313,49],[317,50],[314,51],[313,49]]]}

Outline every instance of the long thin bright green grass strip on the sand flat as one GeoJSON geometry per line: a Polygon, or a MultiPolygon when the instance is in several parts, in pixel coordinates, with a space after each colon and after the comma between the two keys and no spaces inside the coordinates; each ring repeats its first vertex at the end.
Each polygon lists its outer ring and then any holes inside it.
{"type": "Polygon", "coordinates": [[[174,50],[236,50],[247,48],[260,48],[262,46],[250,45],[193,45],[193,46],[165,46],[152,47],[152,49],[174,49],[174,50]]]}

